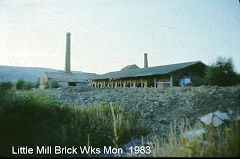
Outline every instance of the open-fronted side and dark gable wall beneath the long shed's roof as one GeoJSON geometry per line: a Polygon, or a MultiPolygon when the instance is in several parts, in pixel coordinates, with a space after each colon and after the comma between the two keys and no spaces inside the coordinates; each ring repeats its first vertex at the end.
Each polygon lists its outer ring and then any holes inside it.
{"type": "MultiPolygon", "coordinates": [[[[122,79],[115,79],[113,81],[109,80],[93,80],[92,83],[95,86],[103,87],[104,81],[105,83],[109,83],[106,86],[108,87],[157,87],[157,88],[166,88],[172,86],[179,86],[179,80],[184,77],[190,77],[192,81],[192,85],[196,86],[199,81],[204,76],[205,70],[204,64],[196,64],[190,67],[177,70],[172,74],[166,75],[154,75],[154,76],[145,76],[145,77],[134,77],[134,78],[122,78],[122,79]],[[131,81],[131,85],[130,85],[131,81]],[[112,84],[114,83],[114,84],[112,84]]],[[[105,85],[104,85],[105,86],[105,85]]]]}

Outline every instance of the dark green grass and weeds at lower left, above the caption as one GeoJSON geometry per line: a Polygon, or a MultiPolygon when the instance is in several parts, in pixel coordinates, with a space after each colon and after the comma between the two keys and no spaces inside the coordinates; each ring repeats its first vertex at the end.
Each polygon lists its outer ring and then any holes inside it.
{"type": "Polygon", "coordinates": [[[6,98],[0,104],[3,156],[11,154],[11,146],[116,146],[146,134],[139,114],[117,106],[73,107],[32,93],[6,98]]]}

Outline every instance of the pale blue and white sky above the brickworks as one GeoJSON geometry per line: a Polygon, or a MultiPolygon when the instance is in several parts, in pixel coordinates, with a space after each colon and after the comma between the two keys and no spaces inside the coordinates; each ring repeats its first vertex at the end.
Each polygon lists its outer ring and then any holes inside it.
{"type": "Polygon", "coordinates": [[[106,73],[232,57],[240,72],[238,0],[0,0],[0,65],[106,73]]]}

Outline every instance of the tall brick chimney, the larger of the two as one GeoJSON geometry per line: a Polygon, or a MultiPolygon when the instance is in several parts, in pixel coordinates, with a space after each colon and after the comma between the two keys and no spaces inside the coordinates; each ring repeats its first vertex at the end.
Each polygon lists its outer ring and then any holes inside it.
{"type": "Polygon", "coordinates": [[[69,32],[66,37],[65,72],[71,73],[71,33],[69,32]]]}

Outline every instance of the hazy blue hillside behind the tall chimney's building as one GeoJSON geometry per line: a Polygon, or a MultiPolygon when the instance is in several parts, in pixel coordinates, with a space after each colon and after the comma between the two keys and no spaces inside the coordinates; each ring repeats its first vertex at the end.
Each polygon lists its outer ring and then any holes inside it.
{"type": "MultiPolygon", "coordinates": [[[[16,67],[16,66],[0,66],[0,81],[16,82],[18,79],[36,82],[43,72],[56,72],[61,70],[42,68],[42,67],[16,67]]],[[[75,73],[83,73],[84,76],[92,77],[92,73],[73,71],[75,73]]]]}

